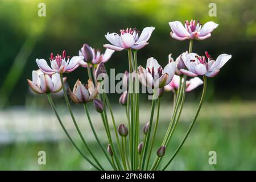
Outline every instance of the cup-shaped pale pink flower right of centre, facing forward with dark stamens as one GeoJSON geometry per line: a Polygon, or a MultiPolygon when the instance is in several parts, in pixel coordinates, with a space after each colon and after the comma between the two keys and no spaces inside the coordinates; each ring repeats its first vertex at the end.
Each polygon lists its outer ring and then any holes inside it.
{"type": "Polygon", "coordinates": [[[154,57],[150,57],[147,60],[146,69],[142,66],[138,67],[139,81],[141,81],[144,86],[162,88],[169,84],[172,77],[174,77],[175,68],[176,64],[171,62],[163,69],[154,57]]]}

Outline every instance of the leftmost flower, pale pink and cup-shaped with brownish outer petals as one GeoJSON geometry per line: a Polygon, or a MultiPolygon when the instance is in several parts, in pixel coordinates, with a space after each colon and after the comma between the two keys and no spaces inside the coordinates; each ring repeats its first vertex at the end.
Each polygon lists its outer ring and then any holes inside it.
{"type": "MultiPolygon", "coordinates": [[[[67,77],[64,77],[63,80],[66,81],[67,77]]],[[[27,79],[27,82],[32,91],[39,94],[56,93],[62,88],[59,73],[47,75],[40,69],[32,71],[32,81],[27,79]]]]}

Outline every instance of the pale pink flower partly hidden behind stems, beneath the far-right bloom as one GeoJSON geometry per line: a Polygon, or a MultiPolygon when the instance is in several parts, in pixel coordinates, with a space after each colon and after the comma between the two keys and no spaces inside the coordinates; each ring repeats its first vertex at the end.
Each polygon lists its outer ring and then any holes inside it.
{"type": "MultiPolygon", "coordinates": [[[[189,92],[197,88],[197,86],[202,85],[203,83],[204,83],[203,80],[201,80],[199,77],[195,77],[195,78],[191,78],[190,80],[187,80],[186,92],[189,92]]],[[[174,75],[174,78],[172,78],[172,81],[170,82],[170,84],[164,86],[164,90],[175,92],[179,88],[179,85],[180,85],[180,77],[177,75],[174,75]]]]}

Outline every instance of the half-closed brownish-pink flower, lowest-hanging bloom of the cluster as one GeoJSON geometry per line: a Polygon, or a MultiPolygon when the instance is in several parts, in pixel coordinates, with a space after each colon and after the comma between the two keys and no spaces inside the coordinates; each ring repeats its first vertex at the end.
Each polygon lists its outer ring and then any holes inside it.
{"type": "Polygon", "coordinates": [[[100,84],[97,82],[96,87],[94,87],[93,82],[90,79],[86,85],[83,85],[80,80],[77,80],[73,92],[68,88],[69,96],[76,104],[87,103],[97,97],[99,86],[100,84]]]}

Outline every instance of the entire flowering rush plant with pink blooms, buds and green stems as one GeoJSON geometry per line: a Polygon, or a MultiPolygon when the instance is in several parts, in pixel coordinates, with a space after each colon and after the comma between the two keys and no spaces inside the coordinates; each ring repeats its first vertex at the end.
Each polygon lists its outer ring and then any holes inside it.
{"type": "MultiPolygon", "coordinates": [[[[179,21],[170,22],[169,24],[171,37],[177,40],[188,40],[189,47],[186,52],[181,52],[175,60],[170,54],[163,67],[154,57],[147,59],[146,67],[138,65],[140,62],[138,62],[137,53],[147,46],[152,32],[155,30],[154,27],[146,27],[141,33],[136,28],[120,30],[119,34],[107,33],[105,37],[109,44],[104,44],[106,48],[104,53],[90,47],[88,44],[84,44],[79,49],[77,56],[69,57],[63,51],[62,55],[54,56],[51,53],[49,64],[44,59],[36,59],[39,69],[32,71],[32,81],[28,80],[28,85],[35,93],[46,94],[64,133],[76,150],[94,169],[105,170],[102,167],[102,162],[97,159],[77,125],[71,101],[75,104],[84,105],[85,114],[98,147],[109,162],[108,169],[164,170],[178,154],[196,122],[207,90],[207,77],[216,76],[224,64],[232,57],[222,53],[214,59],[207,51],[204,54],[192,52],[193,41],[209,38],[218,24],[207,22],[202,26],[199,21],[196,22],[195,20],[185,21],[184,26],[179,21]],[[127,51],[128,55],[128,71],[122,74],[121,84],[119,84],[121,85],[119,89],[119,91],[121,90],[119,92],[121,93],[119,104],[124,107],[126,111],[124,118],[127,118],[124,121],[115,121],[113,109],[108,99],[109,77],[105,64],[115,51],[127,51]],[[82,84],[80,80],[77,80],[73,88],[66,88],[64,84],[67,82],[67,77],[63,77],[63,75],[70,74],[80,66],[87,69],[88,82],[82,84]],[[191,125],[171,158],[165,158],[164,154],[169,152],[168,144],[179,123],[185,95],[200,85],[203,85],[203,92],[191,125]],[[142,128],[139,117],[139,94],[141,91],[147,93],[152,102],[148,122],[142,128]],[[57,92],[61,92],[64,95],[71,119],[88,151],[87,155],[77,146],[61,121],[51,97],[51,93],[57,92]],[[174,108],[170,112],[170,123],[162,143],[156,143],[155,137],[158,132],[160,103],[162,97],[164,97],[164,92],[174,94],[174,108]],[[98,138],[94,123],[90,118],[91,111],[88,110],[88,105],[90,104],[93,104],[94,109],[101,115],[108,143],[98,138]],[[108,113],[110,113],[110,118],[108,113]],[[156,115],[156,119],[154,119],[154,115],[156,115]],[[113,123],[113,128],[110,128],[110,122],[113,123]],[[154,148],[157,148],[157,150],[154,150],[154,148]]],[[[117,86],[115,88],[117,89],[117,86]]]]}

